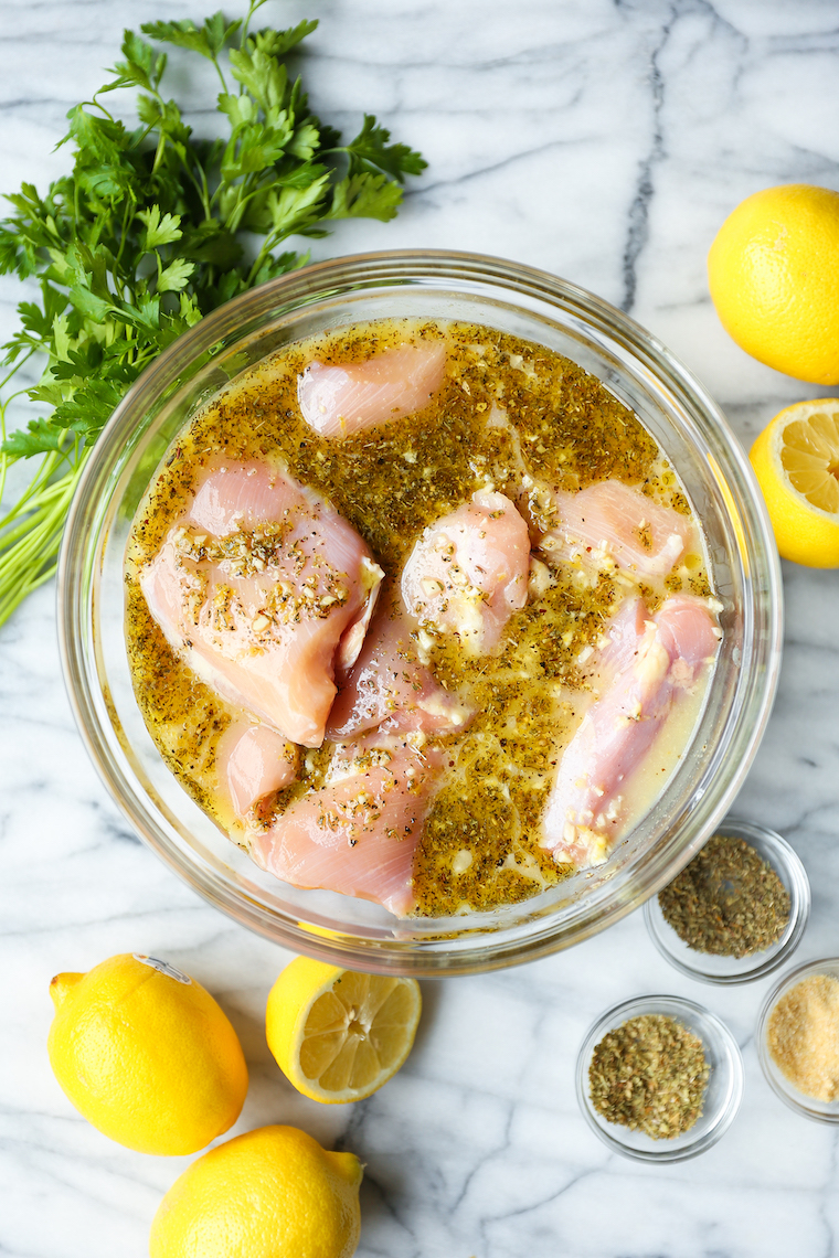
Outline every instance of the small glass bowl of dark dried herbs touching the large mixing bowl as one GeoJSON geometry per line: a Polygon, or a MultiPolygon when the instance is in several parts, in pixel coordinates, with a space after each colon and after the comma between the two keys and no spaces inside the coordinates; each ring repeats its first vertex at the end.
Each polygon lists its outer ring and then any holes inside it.
{"type": "Polygon", "coordinates": [[[790,844],[737,818],[644,905],[659,952],[701,982],[752,982],[777,970],[809,917],[810,883],[790,844]]]}

